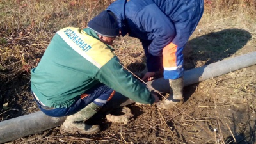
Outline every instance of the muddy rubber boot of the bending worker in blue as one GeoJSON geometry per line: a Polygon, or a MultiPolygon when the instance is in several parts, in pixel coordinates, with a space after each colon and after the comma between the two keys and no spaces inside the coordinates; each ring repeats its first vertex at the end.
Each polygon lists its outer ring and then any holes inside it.
{"type": "Polygon", "coordinates": [[[159,109],[171,109],[175,105],[183,102],[183,77],[179,79],[169,79],[170,84],[170,94],[167,100],[163,100],[157,104],[157,108],[159,109]]]}

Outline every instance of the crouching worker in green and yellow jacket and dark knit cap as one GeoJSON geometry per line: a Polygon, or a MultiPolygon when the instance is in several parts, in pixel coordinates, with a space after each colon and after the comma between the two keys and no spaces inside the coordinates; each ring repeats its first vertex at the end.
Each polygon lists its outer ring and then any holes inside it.
{"type": "Polygon", "coordinates": [[[68,27],[58,31],[38,66],[31,70],[31,91],[40,110],[49,116],[67,116],[62,131],[100,131],[99,125],[85,121],[115,92],[143,104],[159,101],[113,54],[110,45],[118,34],[116,18],[103,11],[83,30],[68,27]]]}

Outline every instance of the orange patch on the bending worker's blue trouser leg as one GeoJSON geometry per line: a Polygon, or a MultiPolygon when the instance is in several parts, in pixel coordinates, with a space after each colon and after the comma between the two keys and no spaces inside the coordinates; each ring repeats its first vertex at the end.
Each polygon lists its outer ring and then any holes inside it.
{"type": "Polygon", "coordinates": [[[177,67],[176,64],[177,45],[172,42],[163,49],[163,67],[177,67]]]}

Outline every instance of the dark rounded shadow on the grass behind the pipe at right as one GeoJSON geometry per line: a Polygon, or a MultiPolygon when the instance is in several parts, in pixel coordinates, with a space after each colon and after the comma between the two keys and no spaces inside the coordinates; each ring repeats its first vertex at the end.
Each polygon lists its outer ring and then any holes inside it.
{"type": "Polygon", "coordinates": [[[243,29],[224,29],[193,38],[184,48],[184,67],[189,70],[228,58],[251,38],[243,29]]]}

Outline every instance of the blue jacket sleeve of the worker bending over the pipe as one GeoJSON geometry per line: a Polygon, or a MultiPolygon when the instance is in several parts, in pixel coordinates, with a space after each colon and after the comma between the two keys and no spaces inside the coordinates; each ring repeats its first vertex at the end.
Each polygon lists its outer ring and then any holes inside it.
{"type": "Polygon", "coordinates": [[[172,42],[175,37],[175,26],[156,4],[145,6],[136,15],[134,22],[143,27],[148,33],[153,33],[148,52],[154,56],[161,56],[162,49],[172,42]]]}

